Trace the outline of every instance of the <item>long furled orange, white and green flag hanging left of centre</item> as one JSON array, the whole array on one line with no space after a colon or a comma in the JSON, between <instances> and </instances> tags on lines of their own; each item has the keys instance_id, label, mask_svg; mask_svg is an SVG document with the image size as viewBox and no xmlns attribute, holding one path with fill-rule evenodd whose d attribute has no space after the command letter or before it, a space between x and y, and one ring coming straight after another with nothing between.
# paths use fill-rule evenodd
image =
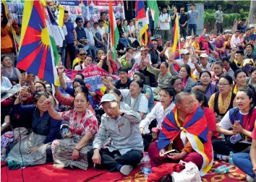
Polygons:
<instances>
[{"instance_id":1,"label":"long furled orange, white and green flag hanging left of centre","mask_svg":"<svg viewBox=\"0 0 256 182\"><path fill-rule=\"evenodd\" d=\"M109 1L109 30L110 30L110 45L111 45L111 55L114 61L116 61L116 48L119 41L119 30L116 25L116 18L113 10L111 1Z\"/></svg>"}]
</instances>

